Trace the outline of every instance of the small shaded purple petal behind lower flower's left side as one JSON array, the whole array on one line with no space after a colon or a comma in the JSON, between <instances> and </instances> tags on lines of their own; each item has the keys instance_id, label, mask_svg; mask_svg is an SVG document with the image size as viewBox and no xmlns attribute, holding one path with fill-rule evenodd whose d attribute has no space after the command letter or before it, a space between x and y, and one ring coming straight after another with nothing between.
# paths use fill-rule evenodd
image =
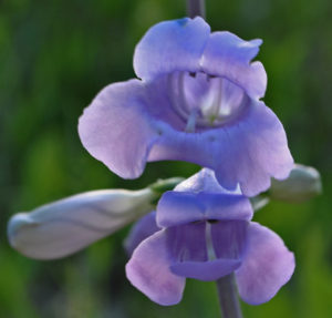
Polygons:
<instances>
[{"instance_id":1,"label":"small shaded purple petal behind lower flower's left side","mask_svg":"<svg viewBox=\"0 0 332 318\"><path fill-rule=\"evenodd\" d=\"M141 242L155 234L159 229L160 228L156 224L155 211L138 219L131 229L129 235L126 237L124 243L127 254L131 256Z\"/></svg>"}]
</instances>

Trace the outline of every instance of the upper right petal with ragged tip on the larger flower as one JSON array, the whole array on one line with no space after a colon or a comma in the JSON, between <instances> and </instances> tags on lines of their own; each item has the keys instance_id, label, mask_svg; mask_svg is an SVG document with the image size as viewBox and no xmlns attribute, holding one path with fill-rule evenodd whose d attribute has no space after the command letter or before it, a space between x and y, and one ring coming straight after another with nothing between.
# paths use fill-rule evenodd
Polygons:
<instances>
[{"instance_id":1,"label":"upper right petal with ragged tip on the larger flower","mask_svg":"<svg viewBox=\"0 0 332 318\"><path fill-rule=\"evenodd\" d=\"M261 40L243 41L230 32L210 34L203 54L201 68L210 75L227 78L252 99L264 95L267 74L260 62L250 64Z\"/></svg>"}]
</instances>

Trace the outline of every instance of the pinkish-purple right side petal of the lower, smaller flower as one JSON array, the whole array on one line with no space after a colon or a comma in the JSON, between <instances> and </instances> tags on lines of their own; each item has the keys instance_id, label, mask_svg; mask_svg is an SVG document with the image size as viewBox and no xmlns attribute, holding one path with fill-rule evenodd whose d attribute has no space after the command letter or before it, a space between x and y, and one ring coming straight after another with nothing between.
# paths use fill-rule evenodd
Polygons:
<instances>
[{"instance_id":1,"label":"pinkish-purple right side petal of the lower, smaller flower","mask_svg":"<svg viewBox=\"0 0 332 318\"><path fill-rule=\"evenodd\" d=\"M236 271L241 298L251 305L269 301L292 276L294 256L269 228L251 223L248 249Z\"/></svg>"}]
</instances>

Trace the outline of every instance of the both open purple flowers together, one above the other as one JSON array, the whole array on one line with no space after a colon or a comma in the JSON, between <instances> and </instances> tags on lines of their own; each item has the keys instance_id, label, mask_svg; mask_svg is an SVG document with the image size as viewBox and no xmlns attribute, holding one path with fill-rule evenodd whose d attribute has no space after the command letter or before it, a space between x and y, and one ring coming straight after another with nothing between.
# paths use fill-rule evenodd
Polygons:
<instances>
[{"instance_id":1,"label":"both open purple flowers together, one above the other","mask_svg":"<svg viewBox=\"0 0 332 318\"><path fill-rule=\"evenodd\" d=\"M80 119L83 145L124 178L153 161L204 167L127 239L128 279L160 305L180 300L186 277L231 273L242 299L260 304L293 273L281 238L251 222L248 197L293 167L282 124L260 101L267 75L251 62L260 44L210 33L201 18L158 23L136 47L139 79L106 86Z\"/></svg>"}]
</instances>

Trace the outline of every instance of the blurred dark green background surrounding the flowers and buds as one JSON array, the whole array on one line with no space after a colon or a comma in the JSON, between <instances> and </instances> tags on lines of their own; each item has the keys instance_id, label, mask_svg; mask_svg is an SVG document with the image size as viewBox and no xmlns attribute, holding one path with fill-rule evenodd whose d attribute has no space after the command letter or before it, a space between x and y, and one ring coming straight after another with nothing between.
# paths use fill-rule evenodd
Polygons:
<instances>
[{"instance_id":1,"label":"blurred dark green background surrounding the flowers and buds","mask_svg":"<svg viewBox=\"0 0 332 318\"><path fill-rule=\"evenodd\" d=\"M206 2L212 30L263 39L264 101L284 124L294 160L319 168L324 187L308 203L274 202L255 215L295 253L297 268L270 302L242 304L245 317L331 317L332 2ZM184 16L185 1L178 0L0 2L1 318L219 316L214 283L188 279L183 301L174 307L160 307L132 287L124 273L128 227L54 261L25 258L6 237L7 220L17 212L89 189L139 188L198 170L153 163L141 178L123 181L87 154L76 132L83 107L103 86L135 76L132 57L144 32Z\"/></svg>"}]
</instances>

